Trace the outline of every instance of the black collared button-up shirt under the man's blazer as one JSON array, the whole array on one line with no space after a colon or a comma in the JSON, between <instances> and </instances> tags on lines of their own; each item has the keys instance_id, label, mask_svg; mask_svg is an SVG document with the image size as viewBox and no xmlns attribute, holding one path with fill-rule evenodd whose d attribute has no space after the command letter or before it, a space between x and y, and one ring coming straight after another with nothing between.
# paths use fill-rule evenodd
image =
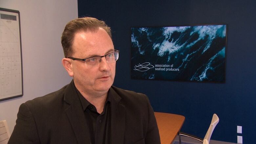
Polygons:
<instances>
[{"instance_id":1,"label":"black collared button-up shirt under the man's blazer","mask_svg":"<svg viewBox=\"0 0 256 144\"><path fill-rule=\"evenodd\" d=\"M98 113L96 107L87 101L76 89L84 110L87 127L89 128L92 144L111 143L110 105L111 95L108 93L102 113ZM87 136L87 135L85 135Z\"/></svg>"}]
</instances>

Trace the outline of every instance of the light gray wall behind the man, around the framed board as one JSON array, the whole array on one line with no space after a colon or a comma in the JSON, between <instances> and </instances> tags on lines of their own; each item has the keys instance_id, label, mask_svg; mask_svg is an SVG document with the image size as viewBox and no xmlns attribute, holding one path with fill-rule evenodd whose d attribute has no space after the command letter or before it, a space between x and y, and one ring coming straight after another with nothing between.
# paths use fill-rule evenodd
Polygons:
<instances>
[{"instance_id":1,"label":"light gray wall behind the man, around the framed board","mask_svg":"<svg viewBox=\"0 0 256 144\"><path fill-rule=\"evenodd\" d=\"M60 37L66 23L77 18L77 0L0 0L0 7L20 11L24 95L0 101L0 120L7 120L12 133L22 103L72 79L61 64Z\"/></svg>"}]
</instances>

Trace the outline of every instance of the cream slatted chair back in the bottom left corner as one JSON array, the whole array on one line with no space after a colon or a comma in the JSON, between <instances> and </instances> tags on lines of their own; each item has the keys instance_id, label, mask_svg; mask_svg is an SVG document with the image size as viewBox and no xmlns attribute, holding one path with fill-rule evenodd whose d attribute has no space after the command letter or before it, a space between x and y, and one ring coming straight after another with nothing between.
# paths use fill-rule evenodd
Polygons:
<instances>
[{"instance_id":1,"label":"cream slatted chair back in the bottom left corner","mask_svg":"<svg viewBox=\"0 0 256 144\"><path fill-rule=\"evenodd\" d=\"M0 121L0 144L7 144L10 136L6 120Z\"/></svg>"}]
</instances>

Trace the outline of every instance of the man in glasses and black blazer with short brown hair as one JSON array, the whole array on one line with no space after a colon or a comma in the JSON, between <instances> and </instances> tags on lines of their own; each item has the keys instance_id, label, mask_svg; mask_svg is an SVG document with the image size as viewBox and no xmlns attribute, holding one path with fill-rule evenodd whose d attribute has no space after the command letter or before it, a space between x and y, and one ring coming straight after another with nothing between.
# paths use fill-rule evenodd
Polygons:
<instances>
[{"instance_id":1,"label":"man in glasses and black blazer with short brown hair","mask_svg":"<svg viewBox=\"0 0 256 144\"><path fill-rule=\"evenodd\" d=\"M77 18L61 43L72 82L23 103L9 144L160 144L146 95L112 86L119 53L110 28Z\"/></svg>"}]
</instances>

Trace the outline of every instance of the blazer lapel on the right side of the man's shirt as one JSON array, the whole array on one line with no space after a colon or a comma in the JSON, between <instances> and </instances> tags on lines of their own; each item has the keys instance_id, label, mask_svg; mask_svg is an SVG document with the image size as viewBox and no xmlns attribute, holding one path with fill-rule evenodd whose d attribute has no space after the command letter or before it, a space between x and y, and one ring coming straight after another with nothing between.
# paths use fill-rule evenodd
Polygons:
<instances>
[{"instance_id":1,"label":"blazer lapel on the right side of the man's shirt","mask_svg":"<svg viewBox=\"0 0 256 144\"><path fill-rule=\"evenodd\" d=\"M111 141L123 144L125 130L125 106L119 102L121 97L110 88L111 99Z\"/></svg>"}]
</instances>

